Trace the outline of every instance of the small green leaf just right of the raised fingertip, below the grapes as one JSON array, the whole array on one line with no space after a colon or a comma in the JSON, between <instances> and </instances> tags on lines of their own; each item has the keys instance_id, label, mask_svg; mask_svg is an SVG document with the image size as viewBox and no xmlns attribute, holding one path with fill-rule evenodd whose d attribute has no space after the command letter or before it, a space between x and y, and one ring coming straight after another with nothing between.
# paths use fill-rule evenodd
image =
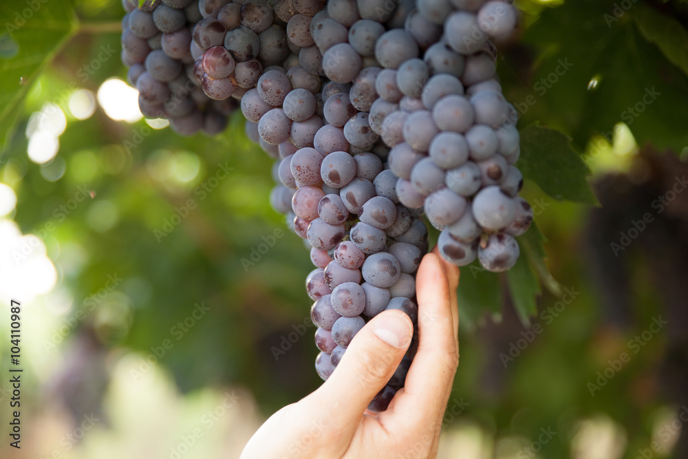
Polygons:
<instances>
[{"instance_id":1,"label":"small green leaf just right of the raised fingertip, below the grapes","mask_svg":"<svg viewBox=\"0 0 688 459\"><path fill-rule=\"evenodd\" d=\"M461 268L459 288L456 290L459 314L463 325L473 328L485 312L502 314L502 286L499 276L485 270L480 264Z\"/></svg>"}]
</instances>

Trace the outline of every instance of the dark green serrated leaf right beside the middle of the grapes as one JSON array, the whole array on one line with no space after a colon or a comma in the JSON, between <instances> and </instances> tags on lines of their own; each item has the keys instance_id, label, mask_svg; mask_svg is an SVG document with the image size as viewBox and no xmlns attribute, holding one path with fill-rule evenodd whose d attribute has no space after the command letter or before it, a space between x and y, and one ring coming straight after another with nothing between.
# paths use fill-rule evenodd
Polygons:
<instances>
[{"instance_id":1,"label":"dark green serrated leaf right beside the middle of the grapes","mask_svg":"<svg viewBox=\"0 0 688 459\"><path fill-rule=\"evenodd\" d=\"M537 123L523 129L518 166L552 198L598 204L588 183L590 169L561 131Z\"/></svg>"}]
</instances>

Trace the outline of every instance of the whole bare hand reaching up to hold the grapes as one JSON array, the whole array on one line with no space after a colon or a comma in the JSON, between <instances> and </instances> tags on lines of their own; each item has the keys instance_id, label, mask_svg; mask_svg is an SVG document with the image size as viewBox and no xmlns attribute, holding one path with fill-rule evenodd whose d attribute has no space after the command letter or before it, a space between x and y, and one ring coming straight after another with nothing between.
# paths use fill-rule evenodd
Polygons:
<instances>
[{"instance_id":1,"label":"whole bare hand reaching up to hold the grapes","mask_svg":"<svg viewBox=\"0 0 688 459\"><path fill-rule=\"evenodd\" d=\"M459 363L459 269L424 256L416 276L418 352L385 412L367 411L411 342L401 311L381 312L356 334L315 392L283 407L249 440L241 459L434 458Z\"/></svg>"}]
</instances>

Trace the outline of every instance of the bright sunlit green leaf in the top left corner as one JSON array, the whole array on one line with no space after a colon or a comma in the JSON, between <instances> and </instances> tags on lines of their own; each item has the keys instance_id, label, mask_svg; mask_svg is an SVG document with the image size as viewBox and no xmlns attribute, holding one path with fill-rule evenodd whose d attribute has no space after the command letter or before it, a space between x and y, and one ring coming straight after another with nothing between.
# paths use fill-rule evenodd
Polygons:
<instances>
[{"instance_id":1,"label":"bright sunlit green leaf in the top left corner","mask_svg":"<svg viewBox=\"0 0 688 459\"><path fill-rule=\"evenodd\" d=\"M14 131L17 113L32 83L78 30L69 0L0 2L0 150ZM29 14L30 13L30 14Z\"/></svg>"}]
</instances>

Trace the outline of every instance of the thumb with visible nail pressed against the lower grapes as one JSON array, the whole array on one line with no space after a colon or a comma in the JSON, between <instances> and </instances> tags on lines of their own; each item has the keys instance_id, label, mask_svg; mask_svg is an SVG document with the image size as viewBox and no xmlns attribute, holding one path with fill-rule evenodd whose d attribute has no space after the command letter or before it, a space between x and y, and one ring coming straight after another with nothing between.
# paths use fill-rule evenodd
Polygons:
<instances>
[{"instance_id":1,"label":"thumb with visible nail pressed against the lower grapes","mask_svg":"<svg viewBox=\"0 0 688 459\"><path fill-rule=\"evenodd\" d=\"M318 409L330 410L341 425L361 418L394 374L412 335L405 312L389 310L374 317L356 334L332 376L312 394Z\"/></svg>"}]
</instances>

